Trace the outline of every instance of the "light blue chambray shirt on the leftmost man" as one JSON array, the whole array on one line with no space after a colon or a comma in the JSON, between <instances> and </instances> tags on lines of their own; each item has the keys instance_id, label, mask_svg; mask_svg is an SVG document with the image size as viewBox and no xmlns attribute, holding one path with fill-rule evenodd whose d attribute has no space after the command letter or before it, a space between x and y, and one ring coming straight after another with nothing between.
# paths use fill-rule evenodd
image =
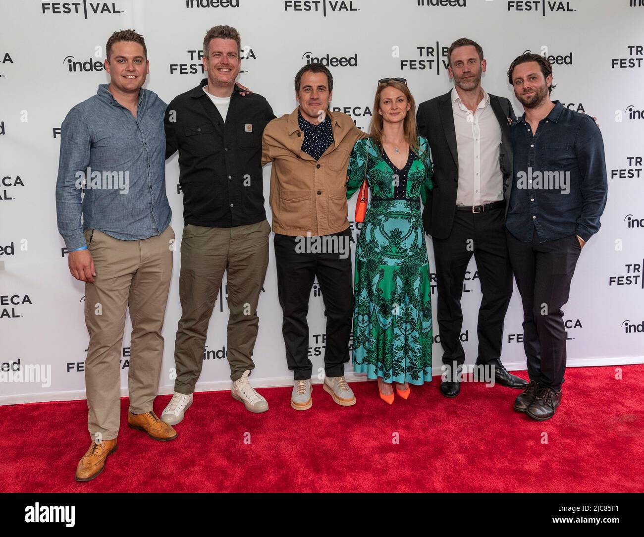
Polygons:
<instances>
[{"instance_id":1,"label":"light blue chambray shirt on the leftmost man","mask_svg":"<svg viewBox=\"0 0 644 537\"><path fill-rule=\"evenodd\" d=\"M108 88L100 84L62 122L56 211L70 251L86 245L86 229L120 240L147 239L164 232L172 216L165 176L167 105L141 89L135 118ZM79 185L88 168L81 202Z\"/></svg>"}]
</instances>

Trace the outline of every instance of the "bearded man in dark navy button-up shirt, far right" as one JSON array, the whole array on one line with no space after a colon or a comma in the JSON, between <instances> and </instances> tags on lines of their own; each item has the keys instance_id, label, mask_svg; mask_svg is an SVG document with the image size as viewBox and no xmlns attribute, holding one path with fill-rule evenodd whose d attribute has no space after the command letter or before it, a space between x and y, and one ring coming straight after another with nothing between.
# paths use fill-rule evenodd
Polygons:
<instances>
[{"instance_id":1,"label":"bearded man in dark navy button-up shirt, far right","mask_svg":"<svg viewBox=\"0 0 644 537\"><path fill-rule=\"evenodd\" d=\"M600 229L606 163L592 118L550 100L553 70L547 59L524 53L507 77L525 109L512 129L514 178L506 221L530 377L515 410L542 421L553 417L562 399L562 306L583 245Z\"/></svg>"}]
</instances>

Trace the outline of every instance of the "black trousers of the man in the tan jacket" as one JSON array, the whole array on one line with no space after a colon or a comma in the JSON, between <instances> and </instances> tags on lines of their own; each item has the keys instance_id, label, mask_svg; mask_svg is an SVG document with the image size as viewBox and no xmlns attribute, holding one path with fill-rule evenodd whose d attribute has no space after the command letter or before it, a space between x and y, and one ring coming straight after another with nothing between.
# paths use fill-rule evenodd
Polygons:
<instances>
[{"instance_id":1,"label":"black trousers of the man in the tan jacket","mask_svg":"<svg viewBox=\"0 0 644 537\"><path fill-rule=\"evenodd\" d=\"M350 229L327 237L332 236L337 236L346 250L310 253L302 251L301 241L298 242L296 237L275 234L273 240L286 359L296 381L310 379L312 374L313 366L308 359L307 314L316 276L327 316L324 355L327 377L344 375L345 363L349 361L349 338L354 315Z\"/></svg>"}]
</instances>

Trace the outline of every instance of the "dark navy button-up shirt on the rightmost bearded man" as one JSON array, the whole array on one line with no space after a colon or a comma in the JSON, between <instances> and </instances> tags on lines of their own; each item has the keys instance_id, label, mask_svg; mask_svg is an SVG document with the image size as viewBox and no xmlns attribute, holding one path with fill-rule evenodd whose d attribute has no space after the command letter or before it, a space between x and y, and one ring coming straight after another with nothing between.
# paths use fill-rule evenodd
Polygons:
<instances>
[{"instance_id":1,"label":"dark navy button-up shirt on the rightmost bearded man","mask_svg":"<svg viewBox=\"0 0 644 537\"><path fill-rule=\"evenodd\" d=\"M514 176L506 227L518 240L539 242L600 229L608 182L603 140L592 117L558 100L533 135L526 114L512 126Z\"/></svg>"}]
</instances>

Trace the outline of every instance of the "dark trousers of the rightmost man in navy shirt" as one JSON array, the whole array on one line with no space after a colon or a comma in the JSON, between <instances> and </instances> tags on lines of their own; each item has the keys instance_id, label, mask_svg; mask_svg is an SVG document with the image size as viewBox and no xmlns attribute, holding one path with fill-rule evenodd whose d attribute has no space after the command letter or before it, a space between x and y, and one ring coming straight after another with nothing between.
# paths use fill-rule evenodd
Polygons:
<instances>
[{"instance_id":1,"label":"dark trousers of the rightmost man in navy shirt","mask_svg":"<svg viewBox=\"0 0 644 537\"><path fill-rule=\"evenodd\" d=\"M562 306L582 251L576 235L539 243L516 240L507 249L524 308L524 349L531 381L560 390L564 382L566 332Z\"/></svg>"}]
</instances>

